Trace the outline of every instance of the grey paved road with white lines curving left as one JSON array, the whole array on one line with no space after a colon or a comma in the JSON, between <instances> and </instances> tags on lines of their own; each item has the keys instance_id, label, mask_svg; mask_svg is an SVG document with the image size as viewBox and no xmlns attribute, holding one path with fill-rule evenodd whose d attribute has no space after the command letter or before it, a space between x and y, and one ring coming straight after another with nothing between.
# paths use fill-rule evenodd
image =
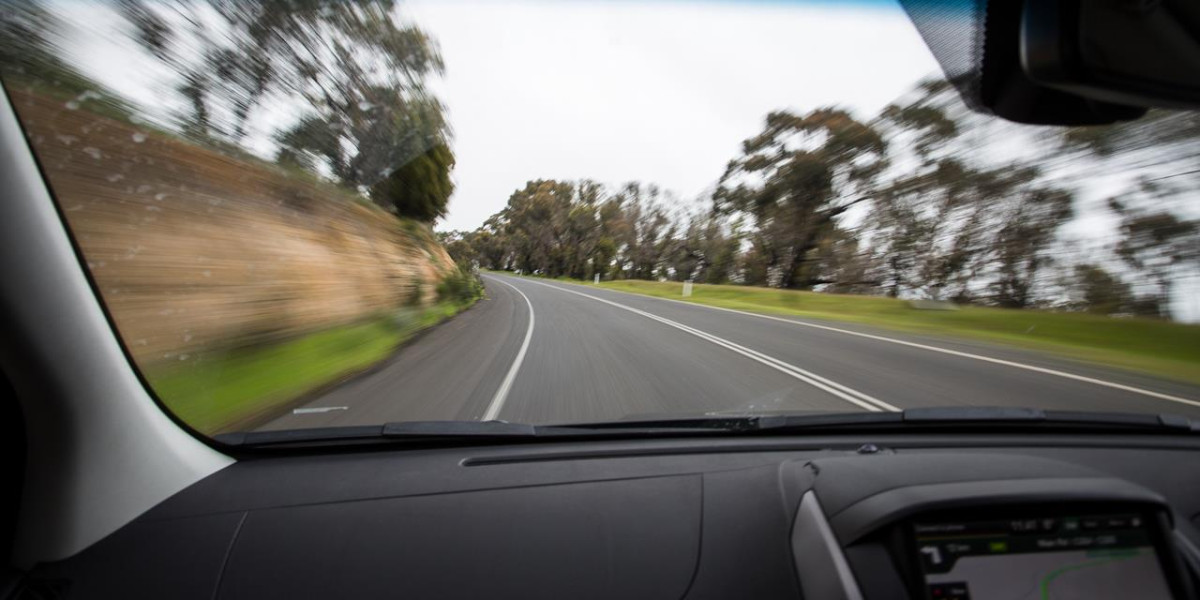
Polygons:
<instances>
[{"instance_id":1,"label":"grey paved road with white lines curving left","mask_svg":"<svg viewBox=\"0 0 1200 600\"><path fill-rule=\"evenodd\" d=\"M484 277L469 311L262 428L936 406L1200 418L1200 388L1028 352Z\"/></svg>"}]
</instances>

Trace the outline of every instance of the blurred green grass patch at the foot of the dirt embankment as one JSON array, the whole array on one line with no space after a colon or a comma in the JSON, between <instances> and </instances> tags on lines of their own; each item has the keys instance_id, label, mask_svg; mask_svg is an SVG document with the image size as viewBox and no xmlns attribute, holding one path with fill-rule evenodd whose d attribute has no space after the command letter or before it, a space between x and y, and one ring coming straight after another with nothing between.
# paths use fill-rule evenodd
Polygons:
<instances>
[{"instance_id":1,"label":"blurred green grass patch at the foot of the dirt embankment","mask_svg":"<svg viewBox=\"0 0 1200 600\"><path fill-rule=\"evenodd\" d=\"M360 372L469 304L442 302L289 341L190 356L146 368L158 397L205 434L238 431L301 395Z\"/></svg>"}]
</instances>

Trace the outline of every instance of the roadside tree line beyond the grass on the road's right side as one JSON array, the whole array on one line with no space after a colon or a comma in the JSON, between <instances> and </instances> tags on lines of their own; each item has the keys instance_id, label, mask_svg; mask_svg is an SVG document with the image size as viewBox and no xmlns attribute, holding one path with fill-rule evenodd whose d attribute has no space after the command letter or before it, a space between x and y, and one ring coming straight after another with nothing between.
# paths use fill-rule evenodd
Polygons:
<instances>
[{"instance_id":1,"label":"roadside tree line beyond the grass on the road's right side","mask_svg":"<svg viewBox=\"0 0 1200 600\"><path fill-rule=\"evenodd\" d=\"M1200 184L1198 167L1194 115L1032 128L924 83L869 120L836 107L767 115L694 202L646 182L532 180L479 229L442 236L461 263L551 277L1169 318L1174 287L1200 266L1200 226L1171 205ZM1116 222L1116 241L1063 232L1082 198L1090 217Z\"/></svg>"}]
</instances>

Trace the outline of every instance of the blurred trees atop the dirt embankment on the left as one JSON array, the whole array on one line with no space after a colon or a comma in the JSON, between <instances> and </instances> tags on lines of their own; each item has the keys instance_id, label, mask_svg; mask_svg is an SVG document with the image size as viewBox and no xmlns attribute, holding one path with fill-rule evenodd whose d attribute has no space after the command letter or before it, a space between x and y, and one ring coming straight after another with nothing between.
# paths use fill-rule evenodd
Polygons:
<instances>
[{"instance_id":1,"label":"blurred trees atop the dirt embankment on the left","mask_svg":"<svg viewBox=\"0 0 1200 600\"><path fill-rule=\"evenodd\" d=\"M241 143L256 110L300 118L276 132L280 164L350 188L374 185L402 216L445 214L454 155L444 108L425 88L436 43L390 0L120 0L144 49L179 76L179 130ZM212 23L211 16L216 17ZM292 108L294 107L294 108Z\"/></svg>"}]
</instances>

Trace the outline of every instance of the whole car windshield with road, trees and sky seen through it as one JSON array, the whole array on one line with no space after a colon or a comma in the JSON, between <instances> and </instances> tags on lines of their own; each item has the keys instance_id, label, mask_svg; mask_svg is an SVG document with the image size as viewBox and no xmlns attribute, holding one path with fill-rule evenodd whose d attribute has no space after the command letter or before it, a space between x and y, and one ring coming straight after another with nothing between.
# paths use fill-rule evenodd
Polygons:
<instances>
[{"instance_id":1,"label":"whole car windshield with road, trees and sky seen through it","mask_svg":"<svg viewBox=\"0 0 1200 600\"><path fill-rule=\"evenodd\" d=\"M1200 416L1200 118L972 112L895 2L0 8L94 287L203 434Z\"/></svg>"}]
</instances>

